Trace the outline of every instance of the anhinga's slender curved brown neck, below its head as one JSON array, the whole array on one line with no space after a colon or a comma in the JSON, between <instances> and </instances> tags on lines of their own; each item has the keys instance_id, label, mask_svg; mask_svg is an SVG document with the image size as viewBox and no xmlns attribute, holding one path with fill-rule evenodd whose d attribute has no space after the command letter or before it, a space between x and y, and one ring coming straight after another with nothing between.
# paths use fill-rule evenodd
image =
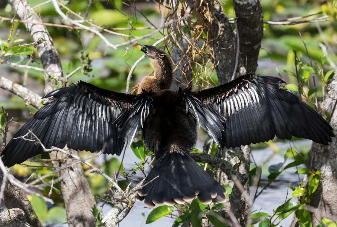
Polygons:
<instances>
[{"instance_id":1,"label":"anhinga's slender curved brown neck, below its head","mask_svg":"<svg viewBox=\"0 0 337 227\"><path fill-rule=\"evenodd\" d=\"M172 66L170 59L165 55L161 58L150 59L154 66L154 77L160 82L160 87L169 89L172 83Z\"/></svg>"}]
</instances>

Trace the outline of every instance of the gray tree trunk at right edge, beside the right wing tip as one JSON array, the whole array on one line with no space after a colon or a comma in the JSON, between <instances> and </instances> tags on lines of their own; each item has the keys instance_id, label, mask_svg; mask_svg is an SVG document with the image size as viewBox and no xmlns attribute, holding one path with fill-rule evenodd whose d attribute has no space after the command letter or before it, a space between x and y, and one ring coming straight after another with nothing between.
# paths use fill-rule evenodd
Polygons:
<instances>
[{"instance_id":1,"label":"gray tree trunk at right edge, beside the right wing tip","mask_svg":"<svg viewBox=\"0 0 337 227\"><path fill-rule=\"evenodd\" d=\"M325 116L325 111L330 115L330 125L337 135L337 73L333 81L327 86L327 95L319 102L321 107L320 114ZM329 145L312 143L308 169L313 171L321 170L320 182L317 190L310 196L311 221L312 226L317 226L321 218L337 220L337 140L332 138ZM307 185L308 177L304 179L304 185ZM299 226L296 214L294 215L292 226Z\"/></svg>"}]
</instances>

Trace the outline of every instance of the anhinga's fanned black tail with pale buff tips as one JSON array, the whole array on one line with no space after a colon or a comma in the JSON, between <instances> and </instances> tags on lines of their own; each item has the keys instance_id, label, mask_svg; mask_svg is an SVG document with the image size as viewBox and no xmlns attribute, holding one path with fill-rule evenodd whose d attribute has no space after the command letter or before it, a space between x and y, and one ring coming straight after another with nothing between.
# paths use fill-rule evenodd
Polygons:
<instances>
[{"instance_id":1,"label":"anhinga's fanned black tail with pale buff tips","mask_svg":"<svg viewBox=\"0 0 337 227\"><path fill-rule=\"evenodd\" d=\"M159 177L157 177L159 176ZM156 179L154 179L157 177ZM154 180L153 180L154 179ZM198 196L202 203L212 199L224 202L225 189L206 173L186 152L167 152L146 177L137 197L153 207L192 201Z\"/></svg>"}]
</instances>

